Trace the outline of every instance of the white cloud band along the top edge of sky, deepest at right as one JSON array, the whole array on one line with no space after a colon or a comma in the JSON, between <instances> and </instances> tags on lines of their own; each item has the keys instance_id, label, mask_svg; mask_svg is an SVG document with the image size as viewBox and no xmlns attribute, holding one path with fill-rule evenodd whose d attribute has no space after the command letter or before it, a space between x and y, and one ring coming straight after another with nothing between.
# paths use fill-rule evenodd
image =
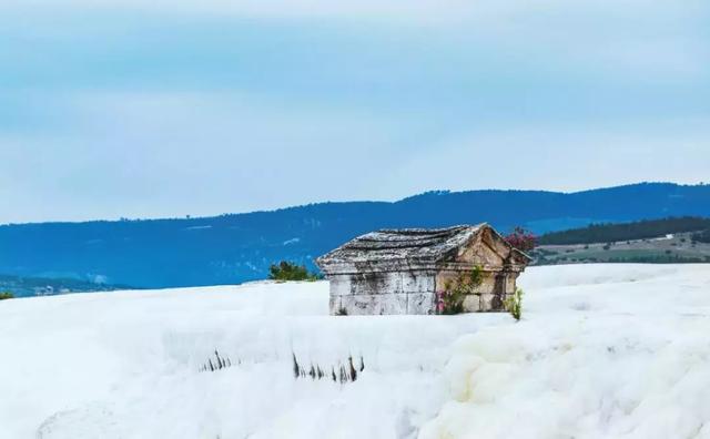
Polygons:
<instances>
[{"instance_id":1,"label":"white cloud band along the top edge of sky, deepest at right","mask_svg":"<svg viewBox=\"0 0 710 439\"><path fill-rule=\"evenodd\" d=\"M710 7L702 0L65 0L61 8L54 0L11 0L0 2L3 9L22 11L21 22L42 13L53 20L53 11L85 17L128 11L155 22L251 18L272 24L341 23L344 32L387 29L404 40L433 27L428 31L435 45L490 47L511 59L549 62L550 70L611 75L699 78L708 75L710 65L703 34ZM36 31L51 37L57 33L52 28L51 21L43 22Z\"/></svg>"}]
</instances>

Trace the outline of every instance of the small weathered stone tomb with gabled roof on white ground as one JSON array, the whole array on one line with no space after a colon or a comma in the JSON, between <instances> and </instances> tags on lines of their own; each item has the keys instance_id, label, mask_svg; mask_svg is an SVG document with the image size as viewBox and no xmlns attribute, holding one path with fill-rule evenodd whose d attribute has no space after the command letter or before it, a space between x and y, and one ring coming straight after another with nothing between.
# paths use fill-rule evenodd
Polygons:
<instances>
[{"instance_id":1,"label":"small weathered stone tomb with gabled roof on white ground","mask_svg":"<svg viewBox=\"0 0 710 439\"><path fill-rule=\"evenodd\" d=\"M504 310L529 262L487 224L372 232L316 261L331 282L331 314L348 315L435 314L436 293L475 266L484 282L465 310Z\"/></svg>"}]
</instances>

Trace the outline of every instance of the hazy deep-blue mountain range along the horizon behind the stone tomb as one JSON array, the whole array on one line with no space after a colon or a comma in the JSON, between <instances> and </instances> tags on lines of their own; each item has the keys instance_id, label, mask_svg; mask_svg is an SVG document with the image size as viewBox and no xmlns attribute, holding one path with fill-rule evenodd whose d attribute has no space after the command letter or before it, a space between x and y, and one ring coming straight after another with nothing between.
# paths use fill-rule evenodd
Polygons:
<instances>
[{"instance_id":1,"label":"hazy deep-blue mountain range along the horizon behind the stone tomb","mask_svg":"<svg viewBox=\"0 0 710 439\"><path fill-rule=\"evenodd\" d=\"M0 274L135 287L235 284L305 263L382 227L488 222L537 233L599 222L710 216L710 185L641 183L577 193L428 192L398 202L320 203L205 218L0 226Z\"/></svg>"}]
</instances>

